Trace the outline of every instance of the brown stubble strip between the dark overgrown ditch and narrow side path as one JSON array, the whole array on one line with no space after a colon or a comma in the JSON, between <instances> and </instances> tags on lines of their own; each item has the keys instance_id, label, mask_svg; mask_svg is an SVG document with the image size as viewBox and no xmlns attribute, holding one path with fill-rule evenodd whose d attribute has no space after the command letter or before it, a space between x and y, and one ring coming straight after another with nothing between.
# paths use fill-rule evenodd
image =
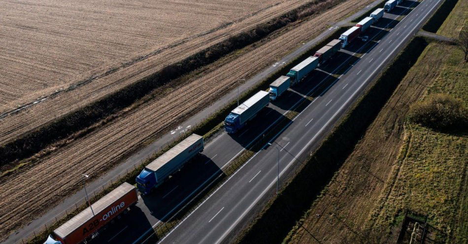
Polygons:
<instances>
[{"instance_id":1,"label":"brown stubble strip between the dark overgrown ditch and narrow side path","mask_svg":"<svg viewBox=\"0 0 468 244\"><path fill-rule=\"evenodd\" d=\"M265 41L253 51L218 67L201 78L190 80L177 88L168 89L161 97L129 112L125 117L85 137L71 141L67 147L40 159L28 169L22 170L24 171L22 174L1 179L1 236L5 236L8 232L32 220L34 216L44 213L48 207L57 204L60 197L74 192L79 184L77 176L84 170L93 172L93 175L99 175L118 163L126 152L131 151L141 142L171 128L238 85L236 81L239 78L244 78L247 74L255 73L266 65L274 63L276 57L285 55L297 47L301 41L318 35L328 28L330 22L342 19L369 2L371 0L345 1L301 23L296 28ZM173 55L174 59L180 56L180 54ZM138 65L145 68L133 73L129 70L128 73L119 70L110 74L109 77L117 73L125 73L126 78L136 79L134 76L141 77L140 73L154 69L154 63L151 64L149 60L138 62ZM127 80L117 79L115 84L125 83ZM87 99L85 94L87 93L83 93L83 100ZM89 97L89 99L92 98ZM38 104L37 107L42 104ZM45 108L43 111L45 112ZM23 118L27 119L27 117ZM43 179L54 180L43 181ZM60 196L57 195L58 192Z\"/></svg>"}]
</instances>

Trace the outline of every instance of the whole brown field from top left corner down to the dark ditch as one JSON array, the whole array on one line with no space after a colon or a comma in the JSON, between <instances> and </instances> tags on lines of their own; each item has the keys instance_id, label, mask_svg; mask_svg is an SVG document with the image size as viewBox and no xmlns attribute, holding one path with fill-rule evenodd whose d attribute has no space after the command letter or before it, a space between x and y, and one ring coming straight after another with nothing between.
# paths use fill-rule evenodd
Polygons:
<instances>
[{"instance_id":1,"label":"whole brown field from top left corner down to the dark ditch","mask_svg":"<svg viewBox=\"0 0 468 244\"><path fill-rule=\"evenodd\" d=\"M0 145L305 2L2 2Z\"/></svg>"}]
</instances>

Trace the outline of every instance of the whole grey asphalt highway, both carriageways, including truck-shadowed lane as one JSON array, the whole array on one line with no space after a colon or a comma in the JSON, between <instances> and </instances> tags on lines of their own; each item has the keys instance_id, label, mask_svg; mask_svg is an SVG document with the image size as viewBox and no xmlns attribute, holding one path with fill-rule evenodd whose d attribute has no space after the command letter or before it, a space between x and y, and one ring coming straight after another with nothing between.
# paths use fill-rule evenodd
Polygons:
<instances>
[{"instance_id":1,"label":"whole grey asphalt highway, both carriageways, including truck-shadowed lane","mask_svg":"<svg viewBox=\"0 0 468 244\"><path fill-rule=\"evenodd\" d=\"M236 135L220 133L204 151L154 194L140 197L136 208L111 224L91 243L143 243L154 235L153 228L190 203L216 179L225 178L221 169L256 139L263 136L296 104L308 102L299 115L278 131L277 136L255 152L170 234L163 243L221 243L232 237L247 214L275 189L279 156L280 182L297 166L368 87L378 72L392 61L406 41L417 32L441 0L404 1L392 13L341 49L333 60L313 71L300 85L271 102L251 124ZM410 9L414 8L414 9ZM396 20L399 19L399 20ZM312 101L305 96L314 97ZM269 194L267 194L269 193Z\"/></svg>"}]
</instances>

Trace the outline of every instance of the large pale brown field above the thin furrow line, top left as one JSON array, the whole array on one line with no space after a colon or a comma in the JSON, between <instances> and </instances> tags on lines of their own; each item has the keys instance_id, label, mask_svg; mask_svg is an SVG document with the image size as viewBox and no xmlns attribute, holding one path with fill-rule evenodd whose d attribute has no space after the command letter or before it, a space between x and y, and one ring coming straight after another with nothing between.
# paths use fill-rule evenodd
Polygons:
<instances>
[{"instance_id":1,"label":"large pale brown field above the thin furrow line, top left","mask_svg":"<svg viewBox=\"0 0 468 244\"><path fill-rule=\"evenodd\" d=\"M281 2L2 1L0 113Z\"/></svg>"}]
</instances>

